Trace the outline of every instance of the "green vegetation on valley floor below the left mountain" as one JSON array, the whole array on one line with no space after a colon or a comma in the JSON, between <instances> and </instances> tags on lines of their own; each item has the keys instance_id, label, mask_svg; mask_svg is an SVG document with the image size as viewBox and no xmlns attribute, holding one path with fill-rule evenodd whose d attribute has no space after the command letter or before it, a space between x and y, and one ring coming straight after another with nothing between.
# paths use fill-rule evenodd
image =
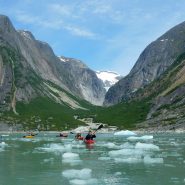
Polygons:
<instances>
[{"instance_id":1,"label":"green vegetation on valley floor below the left mountain","mask_svg":"<svg viewBox=\"0 0 185 185\"><path fill-rule=\"evenodd\" d=\"M36 129L40 125L43 130L66 130L82 122L75 120L72 109L55 103L46 97L32 100L29 104L17 103L16 110L19 115L12 112L4 114L4 117L13 117L25 123L24 127Z\"/></svg>"}]
</instances>

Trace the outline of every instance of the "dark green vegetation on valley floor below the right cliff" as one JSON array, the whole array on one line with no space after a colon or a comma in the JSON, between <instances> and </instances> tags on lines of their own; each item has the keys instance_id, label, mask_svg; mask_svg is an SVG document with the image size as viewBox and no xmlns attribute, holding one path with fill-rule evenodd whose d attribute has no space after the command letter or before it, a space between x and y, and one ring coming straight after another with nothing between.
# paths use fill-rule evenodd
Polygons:
<instances>
[{"instance_id":1,"label":"dark green vegetation on valley floor below the right cliff","mask_svg":"<svg viewBox=\"0 0 185 185\"><path fill-rule=\"evenodd\" d=\"M97 112L95 120L119 128L135 128L136 124L146 119L150 104L147 100L120 103Z\"/></svg>"}]
</instances>

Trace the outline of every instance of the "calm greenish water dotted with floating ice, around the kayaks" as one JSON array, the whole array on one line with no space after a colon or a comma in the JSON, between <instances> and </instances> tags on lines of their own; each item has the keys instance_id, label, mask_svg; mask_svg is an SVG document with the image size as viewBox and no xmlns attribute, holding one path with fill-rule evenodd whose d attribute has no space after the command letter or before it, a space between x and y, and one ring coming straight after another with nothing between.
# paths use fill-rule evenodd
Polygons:
<instances>
[{"instance_id":1,"label":"calm greenish water dotted with floating ice, around the kayaks","mask_svg":"<svg viewBox=\"0 0 185 185\"><path fill-rule=\"evenodd\" d=\"M98 134L94 146L73 137L3 136L0 185L185 184L185 134Z\"/></svg>"}]
</instances>

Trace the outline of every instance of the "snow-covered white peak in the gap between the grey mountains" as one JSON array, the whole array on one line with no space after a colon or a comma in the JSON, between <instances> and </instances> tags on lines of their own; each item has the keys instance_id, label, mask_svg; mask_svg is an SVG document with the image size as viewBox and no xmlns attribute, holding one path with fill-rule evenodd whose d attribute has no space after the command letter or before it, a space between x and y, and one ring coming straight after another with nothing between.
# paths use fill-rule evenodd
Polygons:
<instances>
[{"instance_id":1,"label":"snow-covered white peak in the gap between the grey mountains","mask_svg":"<svg viewBox=\"0 0 185 185\"><path fill-rule=\"evenodd\" d=\"M96 75L103 81L106 91L122 78L121 75L112 71L96 71Z\"/></svg>"}]
</instances>

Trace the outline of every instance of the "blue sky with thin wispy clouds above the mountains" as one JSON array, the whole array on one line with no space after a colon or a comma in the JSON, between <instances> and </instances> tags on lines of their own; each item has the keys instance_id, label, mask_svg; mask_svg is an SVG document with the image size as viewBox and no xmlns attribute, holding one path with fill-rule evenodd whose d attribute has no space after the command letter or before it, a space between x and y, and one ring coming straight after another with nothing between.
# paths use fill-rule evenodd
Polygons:
<instances>
[{"instance_id":1,"label":"blue sky with thin wispy clouds above the mountains","mask_svg":"<svg viewBox=\"0 0 185 185\"><path fill-rule=\"evenodd\" d=\"M57 56L125 76L141 52L185 21L185 0L0 0L0 14Z\"/></svg>"}]
</instances>

